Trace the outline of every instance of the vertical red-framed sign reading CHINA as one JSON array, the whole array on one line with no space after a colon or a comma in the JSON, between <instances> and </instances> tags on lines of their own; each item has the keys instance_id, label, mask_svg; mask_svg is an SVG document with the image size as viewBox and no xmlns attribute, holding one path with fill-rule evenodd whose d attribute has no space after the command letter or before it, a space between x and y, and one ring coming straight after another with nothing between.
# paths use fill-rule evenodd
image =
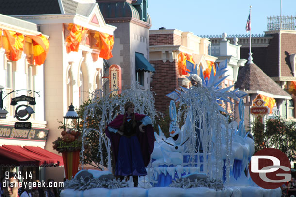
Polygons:
<instances>
[{"instance_id":1,"label":"vertical red-framed sign reading CHINA","mask_svg":"<svg viewBox=\"0 0 296 197\"><path fill-rule=\"evenodd\" d=\"M114 91L113 95L121 93L121 68L116 64L109 68L109 91Z\"/></svg>"}]
</instances>

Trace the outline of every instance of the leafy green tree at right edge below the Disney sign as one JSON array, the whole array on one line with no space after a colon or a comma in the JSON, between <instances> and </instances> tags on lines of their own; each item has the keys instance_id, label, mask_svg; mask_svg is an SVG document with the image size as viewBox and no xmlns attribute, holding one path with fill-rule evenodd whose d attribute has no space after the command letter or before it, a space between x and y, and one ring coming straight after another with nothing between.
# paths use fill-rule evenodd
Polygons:
<instances>
[{"instance_id":1,"label":"leafy green tree at right edge below the Disney sign","mask_svg":"<svg viewBox=\"0 0 296 197\"><path fill-rule=\"evenodd\" d=\"M296 122L285 121L281 117L268 119L265 124L259 120L253 123L255 151L263 148L276 148L288 158L296 160Z\"/></svg>"}]
</instances>

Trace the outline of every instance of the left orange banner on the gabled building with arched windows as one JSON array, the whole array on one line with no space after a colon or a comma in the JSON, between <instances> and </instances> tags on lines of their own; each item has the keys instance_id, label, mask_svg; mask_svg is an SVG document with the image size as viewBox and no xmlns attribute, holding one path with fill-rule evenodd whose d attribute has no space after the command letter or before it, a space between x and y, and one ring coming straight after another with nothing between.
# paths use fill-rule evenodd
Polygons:
<instances>
[{"instance_id":1,"label":"left orange banner on the gabled building with arched windows","mask_svg":"<svg viewBox=\"0 0 296 197\"><path fill-rule=\"evenodd\" d=\"M82 38L85 36L85 34L88 31L88 28L84 28L80 25L76 24L69 24L68 30L70 30L70 35L66 38L66 50L67 53L70 53L71 51L78 52L79 44L82 40Z\"/></svg>"}]
</instances>

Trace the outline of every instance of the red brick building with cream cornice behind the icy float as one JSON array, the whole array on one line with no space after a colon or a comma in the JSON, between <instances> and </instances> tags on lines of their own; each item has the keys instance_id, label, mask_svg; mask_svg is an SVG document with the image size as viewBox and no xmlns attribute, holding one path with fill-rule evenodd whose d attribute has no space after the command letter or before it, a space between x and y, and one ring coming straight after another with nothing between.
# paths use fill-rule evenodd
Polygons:
<instances>
[{"instance_id":1,"label":"red brick building with cream cornice behind the icy float","mask_svg":"<svg viewBox=\"0 0 296 197\"><path fill-rule=\"evenodd\" d=\"M156 70L151 90L156 93L155 108L165 113L171 100L166 94L179 89L179 86L189 87L189 80L179 72L178 54L189 54L203 70L208 67L207 61L215 62L217 58L209 55L209 39L200 38L191 32L177 29L150 30L149 40L150 63Z\"/></svg>"}]
</instances>

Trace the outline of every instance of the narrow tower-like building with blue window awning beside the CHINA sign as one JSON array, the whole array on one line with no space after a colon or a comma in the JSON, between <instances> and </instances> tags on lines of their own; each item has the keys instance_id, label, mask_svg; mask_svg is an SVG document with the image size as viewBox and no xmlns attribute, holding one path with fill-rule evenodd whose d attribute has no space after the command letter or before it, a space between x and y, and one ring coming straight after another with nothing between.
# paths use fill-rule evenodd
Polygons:
<instances>
[{"instance_id":1,"label":"narrow tower-like building with blue window awning beside the CHINA sign","mask_svg":"<svg viewBox=\"0 0 296 197\"><path fill-rule=\"evenodd\" d=\"M150 88L155 69L149 63L149 29L147 0L97 0L106 23L116 26L114 57L109 64L121 67L122 88L138 82L140 89Z\"/></svg>"}]
</instances>

